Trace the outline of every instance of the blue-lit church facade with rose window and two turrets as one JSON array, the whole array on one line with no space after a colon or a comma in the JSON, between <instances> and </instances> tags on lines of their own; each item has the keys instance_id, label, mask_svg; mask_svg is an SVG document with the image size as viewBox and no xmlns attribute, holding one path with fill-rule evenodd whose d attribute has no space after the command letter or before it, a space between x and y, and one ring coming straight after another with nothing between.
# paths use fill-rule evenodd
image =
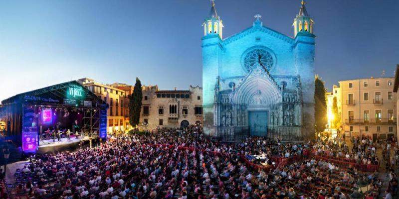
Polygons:
<instances>
[{"instance_id":1,"label":"blue-lit church facade with rose window and two turrets","mask_svg":"<svg viewBox=\"0 0 399 199\"><path fill-rule=\"evenodd\" d=\"M224 39L214 2L204 20L202 105L209 136L299 140L314 133L314 21L302 2L292 38L263 26L260 17Z\"/></svg>"}]
</instances>

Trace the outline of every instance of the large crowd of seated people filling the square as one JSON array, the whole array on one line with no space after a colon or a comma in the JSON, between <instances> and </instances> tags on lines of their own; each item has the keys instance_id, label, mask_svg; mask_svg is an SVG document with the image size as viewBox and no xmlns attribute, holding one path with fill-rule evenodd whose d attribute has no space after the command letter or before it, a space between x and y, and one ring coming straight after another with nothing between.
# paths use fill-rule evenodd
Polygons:
<instances>
[{"instance_id":1,"label":"large crowd of seated people filling the square","mask_svg":"<svg viewBox=\"0 0 399 199\"><path fill-rule=\"evenodd\" d=\"M312 157L264 171L239 158L289 158L311 147L261 137L211 142L198 127L114 136L95 148L43 155L16 175L16 192L57 199L346 199L364 179L372 184L370 194L378 195L382 183L376 173Z\"/></svg>"}]
</instances>

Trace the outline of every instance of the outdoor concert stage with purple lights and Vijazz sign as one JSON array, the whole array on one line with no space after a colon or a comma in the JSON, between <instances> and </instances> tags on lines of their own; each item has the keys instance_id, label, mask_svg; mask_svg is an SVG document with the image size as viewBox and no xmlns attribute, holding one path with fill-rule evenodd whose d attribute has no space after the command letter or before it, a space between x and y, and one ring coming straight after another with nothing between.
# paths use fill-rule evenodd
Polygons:
<instances>
[{"instance_id":1,"label":"outdoor concert stage with purple lights and Vijazz sign","mask_svg":"<svg viewBox=\"0 0 399 199\"><path fill-rule=\"evenodd\" d=\"M107 138L108 104L76 81L18 94L1 104L5 107L7 136L24 154L76 147L80 140L69 142L65 138L75 138L76 132ZM53 142L54 137L62 141Z\"/></svg>"}]
</instances>

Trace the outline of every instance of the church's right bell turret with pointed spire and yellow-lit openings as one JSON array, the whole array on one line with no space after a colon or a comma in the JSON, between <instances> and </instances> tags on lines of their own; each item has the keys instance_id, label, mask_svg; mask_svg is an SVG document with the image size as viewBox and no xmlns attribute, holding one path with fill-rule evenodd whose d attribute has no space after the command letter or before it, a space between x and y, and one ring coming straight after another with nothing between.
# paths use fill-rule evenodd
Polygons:
<instances>
[{"instance_id":1,"label":"church's right bell turret with pointed spire and yellow-lit openings","mask_svg":"<svg viewBox=\"0 0 399 199\"><path fill-rule=\"evenodd\" d=\"M294 24L292 24L294 26L294 36L296 37L299 32L313 34L313 24L313 18L309 16L305 7L305 1L302 0L299 13L294 19Z\"/></svg>"}]
</instances>

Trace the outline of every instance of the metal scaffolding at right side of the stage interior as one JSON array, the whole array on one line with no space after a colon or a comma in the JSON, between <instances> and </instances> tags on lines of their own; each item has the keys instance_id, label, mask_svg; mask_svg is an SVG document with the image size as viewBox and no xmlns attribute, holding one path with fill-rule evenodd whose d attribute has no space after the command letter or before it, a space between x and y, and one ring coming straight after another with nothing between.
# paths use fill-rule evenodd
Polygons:
<instances>
[{"instance_id":1,"label":"metal scaffolding at right side of the stage interior","mask_svg":"<svg viewBox=\"0 0 399 199\"><path fill-rule=\"evenodd\" d=\"M100 108L90 108L83 112L84 135L98 136L100 132Z\"/></svg>"}]
</instances>

